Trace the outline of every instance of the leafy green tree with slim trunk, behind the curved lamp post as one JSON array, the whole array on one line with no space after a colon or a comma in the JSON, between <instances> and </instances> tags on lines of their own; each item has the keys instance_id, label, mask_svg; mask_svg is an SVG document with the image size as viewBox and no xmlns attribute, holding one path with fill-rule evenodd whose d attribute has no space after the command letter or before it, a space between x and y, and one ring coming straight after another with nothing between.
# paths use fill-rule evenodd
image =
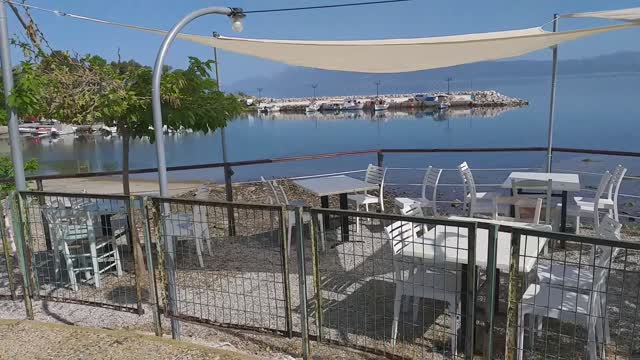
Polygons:
<instances>
[{"instance_id":1,"label":"leafy green tree with slim trunk, behind the curved lamp post","mask_svg":"<svg viewBox=\"0 0 640 360\"><path fill-rule=\"evenodd\" d=\"M14 69L9 104L22 118L116 126L123 138L123 186L128 193L129 138L148 136L154 141L152 69L133 60L109 63L94 55L43 53L27 43L14 45L24 60ZM213 131L242 111L235 96L218 90L212 65L211 60L190 57L186 69L165 67L161 98L163 123L169 129ZM0 114L3 121L6 112Z\"/></svg>"}]
</instances>

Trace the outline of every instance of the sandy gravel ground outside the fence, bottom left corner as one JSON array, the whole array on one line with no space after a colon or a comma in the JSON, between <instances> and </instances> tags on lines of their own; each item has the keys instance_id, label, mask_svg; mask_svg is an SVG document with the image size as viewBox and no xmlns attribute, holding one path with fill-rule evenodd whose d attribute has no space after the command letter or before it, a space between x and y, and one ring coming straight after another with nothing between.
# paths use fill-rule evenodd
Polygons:
<instances>
[{"instance_id":1,"label":"sandy gravel ground outside the fence, bottom left corner","mask_svg":"<svg viewBox=\"0 0 640 360\"><path fill-rule=\"evenodd\" d=\"M255 359L188 342L27 320L0 320L0 359Z\"/></svg>"}]
</instances>

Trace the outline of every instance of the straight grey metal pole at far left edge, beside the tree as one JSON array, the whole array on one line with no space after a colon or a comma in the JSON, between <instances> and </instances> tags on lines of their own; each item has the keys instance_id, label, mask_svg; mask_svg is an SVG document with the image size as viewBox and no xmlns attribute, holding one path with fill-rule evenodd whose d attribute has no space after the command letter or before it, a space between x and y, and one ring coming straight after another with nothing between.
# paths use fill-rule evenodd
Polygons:
<instances>
[{"instance_id":1,"label":"straight grey metal pole at far left edge, beside the tree","mask_svg":"<svg viewBox=\"0 0 640 360\"><path fill-rule=\"evenodd\" d=\"M7 12L5 4L0 4L0 59L2 61L2 83L4 85L4 101L7 108L7 122L9 126L9 144L11 146L11 161L13 176L18 191L27 190L24 178L24 162L22 159L22 145L18 130L18 114L9 106L9 95L13 91L13 68L9 50L9 30L7 29Z\"/></svg>"}]
</instances>

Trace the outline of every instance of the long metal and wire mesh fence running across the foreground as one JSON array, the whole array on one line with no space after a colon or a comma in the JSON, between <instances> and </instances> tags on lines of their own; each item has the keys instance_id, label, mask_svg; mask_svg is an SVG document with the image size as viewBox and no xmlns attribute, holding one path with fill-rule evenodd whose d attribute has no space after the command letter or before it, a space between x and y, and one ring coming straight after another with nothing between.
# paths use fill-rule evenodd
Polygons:
<instances>
[{"instance_id":1,"label":"long metal and wire mesh fence running across the foreground","mask_svg":"<svg viewBox=\"0 0 640 360\"><path fill-rule=\"evenodd\" d=\"M90 241L65 236L60 224L89 229L88 220L73 222L80 209L93 211L90 228L110 247L94 255ZM3 241L16 245L22 281L14 285L28 317L38 298L134 312L144 305L157 334L164 312L300 337L305 358L310 341L389 358L587 358L593 349L597 358L629 358L639 348L636 241L482 219L43 192L14 195L11 215L14 237ZM63 266L65 256L89 253L87 262L101 260L102 269L114 259L101 256L114 248L122 274L107 269L100 287L92 265L72 261L77 273ZM594 259L607 248L615 256L599 266ZM554 267L566 276L552 283L543 272ZM578 285L568 271L579 274ZM588 278L590 286L581 282ZM560 305L542 290L559 293ZM594 294L600 306L585 308Z\"/></svg>"}]
</instances>

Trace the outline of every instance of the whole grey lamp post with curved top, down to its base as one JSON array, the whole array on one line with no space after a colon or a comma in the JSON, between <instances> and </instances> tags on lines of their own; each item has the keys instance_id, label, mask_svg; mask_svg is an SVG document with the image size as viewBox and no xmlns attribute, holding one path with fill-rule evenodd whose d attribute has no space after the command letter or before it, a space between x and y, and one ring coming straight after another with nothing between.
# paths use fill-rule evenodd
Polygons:
<instances>
[{"instance_id":1,"label":"whole grey lamp post with curved top, down to its base","mask_svg":"<svg viewBox=\"0 0 640 360\"><path fill-rule=\"evenodd\" d=\"M1 15L2 13L0 13ZM151 83L151 102L153 109L153 131L156 136L156 155L158 162L158 180L160 183L160 196L168 196L168 183L167 183L167 163L164 153L164 133L162 131L162 107L160 97L160 80L162 78L162 67L164 65L164 58L169 50L169 47L173 43L180 30L182 30L191 21L209 14L226 15L232 20L232 28L234 31L242 31L242 18L245 17L242 9L228 8L228 7L208 7L200 10L196 10L173 26L171 31L167 33L158 55L156 57L156 63L153 68L153 78ZM1 34L0 34L1 35ZM3 67L4 68L4 67ZM6 80L5 80L6 81ZM168 209L164 209L167 211ZM172 315L178 315L178 307L176 303L176 278L175 278L175 251L173 248L173 239L171 236L167 236L166 239L167 248L167 273L169 282L169 309ZM174 339L180 338L180 323L175 318L171 319L171 336Z\"/></svg>"}]
</instances>

